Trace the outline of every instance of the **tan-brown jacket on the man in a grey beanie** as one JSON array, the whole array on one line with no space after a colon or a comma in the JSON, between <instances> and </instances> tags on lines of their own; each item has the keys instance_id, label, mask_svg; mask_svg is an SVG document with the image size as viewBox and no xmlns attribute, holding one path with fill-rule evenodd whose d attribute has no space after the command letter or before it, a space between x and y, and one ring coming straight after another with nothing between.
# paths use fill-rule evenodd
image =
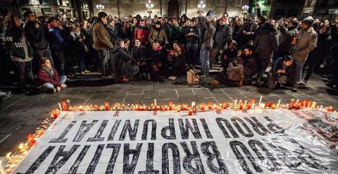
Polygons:
<instances>
[{"instance_id":1,"label":"tan-brown jacket on the man in a grey beanie","mask_svg":"<svg viewBox=\"0 0 338 174\"><path fill-rule=\"evenodd\" d=\"M317 45L318 34L313 30L313 27L310 27L308 30L300 30L297 32L296 39L298 39L298 42L292 50L292 58L305 63L308 54L315 49Z\"/></svg>"}]
</instances>

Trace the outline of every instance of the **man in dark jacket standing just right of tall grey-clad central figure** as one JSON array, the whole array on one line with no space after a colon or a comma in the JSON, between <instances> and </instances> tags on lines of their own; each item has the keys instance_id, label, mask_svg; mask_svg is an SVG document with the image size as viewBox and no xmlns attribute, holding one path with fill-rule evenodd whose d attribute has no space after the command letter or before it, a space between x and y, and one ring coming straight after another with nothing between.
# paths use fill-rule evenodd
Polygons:
<instances>
[{"instance_id":1,"label":"man in dark jacket standing just right of tall grey-clad central figure","mask_svg":"<svg viewBox=\"0 0 338 174\"><path fill-rule=\"evenodd\" d=\"M227 17L220 18L215 36L213 37L213 49L210 55L211 66L213 63L218 63L218 58L216 58L216 56L219 55L220 51L224 51L227 42L232 40L232 30L226 23Z\"/></svg>"}]
</instances>

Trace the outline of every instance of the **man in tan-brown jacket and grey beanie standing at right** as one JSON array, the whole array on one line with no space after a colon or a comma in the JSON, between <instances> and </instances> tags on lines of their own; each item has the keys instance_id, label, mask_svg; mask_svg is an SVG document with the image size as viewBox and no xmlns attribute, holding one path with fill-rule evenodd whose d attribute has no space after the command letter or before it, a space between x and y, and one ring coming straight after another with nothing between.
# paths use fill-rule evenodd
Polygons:
<instances>
[{"instance_id":1,"label":"man in tan-brown jacket and grey beanie standing at right","mask_svg":"<svg viewBox=\"0 0 338 174\"><path fill-rule=\"evenodd\" d=\"M314 19L309 16L301 22L301 30L297 32L294 43L294 49L292 51L292 68L289 77L289 85L292 85L292 92L298 91L298 85L301 81L301 74L303 65L308 58L310 51L315 49L317 44L318 34L313 27Z\"/></svg>"}]
</instances>

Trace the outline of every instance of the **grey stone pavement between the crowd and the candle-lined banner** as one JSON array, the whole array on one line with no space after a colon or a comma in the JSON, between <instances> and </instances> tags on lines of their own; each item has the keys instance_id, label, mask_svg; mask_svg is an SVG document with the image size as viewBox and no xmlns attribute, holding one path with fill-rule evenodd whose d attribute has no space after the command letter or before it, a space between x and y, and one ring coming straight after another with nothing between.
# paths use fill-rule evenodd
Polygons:
<instances>
[{"instance_id":1,"label":"grey stone pavement between the crowd and the candle-lined banner","mask_svg":"<svg viewBox=\"0 0 338 174\"><path fill-rule=\"evenodd\" d=\"M262 102L288 102L291 99L312 99L319 105L338 108L337 92L327 89L323 82L312 80L308 82L307 89L299 89L299 92L289 90L269 91L266 88L251 86L228 88L222 87L213 92L199 87L188 85L173 85L167 83L149 82L145 85L105 85L100 87L69 87L56 94L38 94L27 96L25 94L13 94L4 99L0 111L0 156L5 156L20 142L25 141L26 135L34 132L39 123L49 117L52 108L57 108L60 101L70 100L71 105L80 104L151 104L157 99L157 104L190 104L196 101L212 101L221 103L232 102L235 99L249 100L259 99Z\"/></svg>"}]
</instances>

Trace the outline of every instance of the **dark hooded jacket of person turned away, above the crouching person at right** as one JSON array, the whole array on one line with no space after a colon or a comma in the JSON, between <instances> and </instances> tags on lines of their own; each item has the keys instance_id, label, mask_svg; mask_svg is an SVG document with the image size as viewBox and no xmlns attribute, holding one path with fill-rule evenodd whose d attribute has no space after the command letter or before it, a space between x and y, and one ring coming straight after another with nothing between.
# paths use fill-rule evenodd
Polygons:
<instances>
[{"instance_id":1,"label":"dark hooded jacket of person turned away, above the crouching person at right","mask_svg":"<svg viewBox=\"0 0 338 174\"><path fill-rule=\"evenodd\" d=\"M277 30L270 23L263 23L256 30L256 39L253 41L253 48L258 59L267 60L273 56L278 48Z\"/></svg>"}]
</instances>

